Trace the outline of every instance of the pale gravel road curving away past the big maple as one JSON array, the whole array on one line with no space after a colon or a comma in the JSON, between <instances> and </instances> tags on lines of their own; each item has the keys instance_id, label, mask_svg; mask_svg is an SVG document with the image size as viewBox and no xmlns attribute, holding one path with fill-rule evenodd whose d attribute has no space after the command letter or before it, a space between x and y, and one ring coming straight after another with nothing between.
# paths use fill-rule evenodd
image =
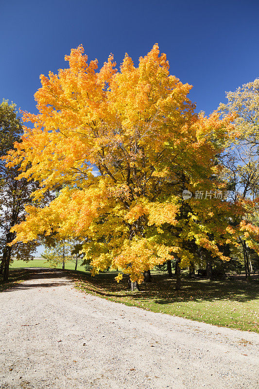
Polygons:
<instances>
[{"instance_id":1,"label":"pale gravel road curving away past the big maple","mask_svg":"<svg viewBox=\"0 0 259 389\"><path fill-rule=\"evenodd\" d=\"M1 389L253 389L255 333L85 295L61 271L0 293Z\"/></svg>"}]
</instances>

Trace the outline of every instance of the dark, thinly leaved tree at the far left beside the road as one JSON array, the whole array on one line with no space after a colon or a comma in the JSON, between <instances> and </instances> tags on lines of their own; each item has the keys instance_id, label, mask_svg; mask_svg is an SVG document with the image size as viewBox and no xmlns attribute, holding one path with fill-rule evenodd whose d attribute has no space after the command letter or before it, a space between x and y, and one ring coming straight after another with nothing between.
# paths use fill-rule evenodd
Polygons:
<instances>
[{"instance_id":1,"label":"dark, thinly leaved tree at the far left beside the road","mask_svg":"<svg viewBox=\"0 0 259 389\"><path fill-rule=\"evenodd\" d=\"M30 195L36 188L33 181L16 179L19 165L14 164L11 168L5 165L4 156L13 148L15 141L20 141L21 133L22 123L17 117L16 105L3 100L0 105L0 273L3 272L4 281L8 281L11 255L29 261L33 259L37 247L35 240L9 245L16 237L11 229L25 219L24 205L31 202Z\"/></svg>"}]
</instances>

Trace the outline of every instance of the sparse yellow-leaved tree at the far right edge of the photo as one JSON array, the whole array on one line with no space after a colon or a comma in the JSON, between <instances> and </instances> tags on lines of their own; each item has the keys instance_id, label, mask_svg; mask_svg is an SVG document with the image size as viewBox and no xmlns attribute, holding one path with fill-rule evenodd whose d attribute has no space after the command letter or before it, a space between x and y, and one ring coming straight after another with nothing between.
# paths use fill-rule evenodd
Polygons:
<instances>
[{"instance_id":1,"label":"sparse yellow-leaved tree at the far right edge of the photo","mask_svg":"<svg viewBox=\"0 0 259 389\"><path fill-rule=\"evenodd\" d=\"M242 247L246 276L249 277L248 248L258 252L259 204L259 79L242 85L226 94L227 104L220 112L234 116L233 137L224 161L224 175L234 190L242 192L244 213L235 221L240 225L239 242ZM245 202L245 198L247 201ZM246 204L245 204L246 203Z\"/></svg>"}]
</instances>

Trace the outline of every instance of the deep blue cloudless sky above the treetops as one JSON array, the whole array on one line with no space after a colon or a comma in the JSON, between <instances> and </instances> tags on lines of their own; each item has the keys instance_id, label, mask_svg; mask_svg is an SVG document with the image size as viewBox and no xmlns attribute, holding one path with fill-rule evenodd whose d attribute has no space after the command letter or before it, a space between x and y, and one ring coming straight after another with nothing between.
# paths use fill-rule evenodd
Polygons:
<instances>
[{"instance_id":1,"label":"deep blue cloudless sky above the treetops","mask_svg":"<svg viewBox=\"0 0 259 389\"><path fill-rule=\"evenodd\" d=\"M258 0L1 0L0 9L0 100L30 112L39 75L67 67L80 44L102 66L125 52L137 64L158 43L207 114L259 77Z\"/></svg>"}]
</instances>

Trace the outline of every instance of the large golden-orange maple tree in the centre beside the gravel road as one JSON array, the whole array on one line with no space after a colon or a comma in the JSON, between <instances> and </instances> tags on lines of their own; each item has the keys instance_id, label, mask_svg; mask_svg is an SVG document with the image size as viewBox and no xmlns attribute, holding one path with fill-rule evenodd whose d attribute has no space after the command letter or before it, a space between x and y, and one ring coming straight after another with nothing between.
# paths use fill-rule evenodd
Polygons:
<instances>
[{"instance_id":1,"label":"large golden-orange maple tree in the centre beside the gravel road","mask_svg":"<svg viewBox=\"0 0 259 389\"><path fill-rule=\"evenodd\" d=\"M176 259L180 267L197 259L197 247L227 260L221 250L235 244L231 215L239 202L213 196L226 189L218 177L218 156L231 136L231 114L220 118L194 112L191 86L170 75L158 46L139 58L125 54L120 71L113 56L98 71L79 46L65 56L68 69L40 76L38 114L24 112L22 142L9 153L20 177L40 182L35 201L62 186L46 207L28 206L13 241L38 235L70 236L85 243L92 274L108 266L130 277L131 287L155 265ZM182 198L183 190L206 199Z\"/></svg>"}]
</instances>

